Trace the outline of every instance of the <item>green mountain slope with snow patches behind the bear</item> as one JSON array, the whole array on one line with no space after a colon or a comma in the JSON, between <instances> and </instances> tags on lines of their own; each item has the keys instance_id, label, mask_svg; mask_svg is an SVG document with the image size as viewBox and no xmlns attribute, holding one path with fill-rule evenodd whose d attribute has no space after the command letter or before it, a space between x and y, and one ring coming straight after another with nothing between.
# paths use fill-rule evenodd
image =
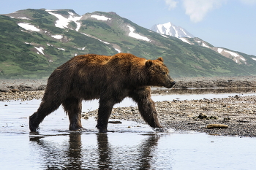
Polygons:
<instances>
[{"instance_id":1,"label":"green mountain slope with snow patches behind the bear","mask_svg":"<svg viewBox=\"0 0 256 170\"><path fill-rule=\"evenodd\" d=\"M25 9L0 15L0 52L2 78L48 77L75 55L120 52L148 59L162 57L173 77L256 74L253 55L243 54L246 62L236 63L218 50L162 36L115 12L80 16L71 9Z\"/></svg>"}]
</instances>

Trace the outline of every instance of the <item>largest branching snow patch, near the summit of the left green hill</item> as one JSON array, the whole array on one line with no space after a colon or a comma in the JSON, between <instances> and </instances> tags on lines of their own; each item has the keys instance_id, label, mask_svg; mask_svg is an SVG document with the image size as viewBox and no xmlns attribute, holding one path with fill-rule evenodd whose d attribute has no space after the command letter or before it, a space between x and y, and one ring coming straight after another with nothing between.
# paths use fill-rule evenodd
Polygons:
<instances>
[{"instance_id":1,"label":"largest branching snow patch, near the summit of the left green hill","mask_svg":"<svg viewBox=\"0 0 256 170\"><path fill-rule=\"evenodd\" d=\"M56 16L56 18L58 18L59 20L56 20L55 26L59 27L59 28L67 28L67 25L69 25L69 22L74 21L77 24L77 28L75 29L75 31L78 31L80 29L81 23L78 23L78 20L80 20L82 17L75 17L74 13L69 12L69 18L64 18L62 15L59 14L55 14L53 12L53 10L48 10L46 9L45 11L47 11L50 15L54 15Z\"/></svg>"}]
</instances>

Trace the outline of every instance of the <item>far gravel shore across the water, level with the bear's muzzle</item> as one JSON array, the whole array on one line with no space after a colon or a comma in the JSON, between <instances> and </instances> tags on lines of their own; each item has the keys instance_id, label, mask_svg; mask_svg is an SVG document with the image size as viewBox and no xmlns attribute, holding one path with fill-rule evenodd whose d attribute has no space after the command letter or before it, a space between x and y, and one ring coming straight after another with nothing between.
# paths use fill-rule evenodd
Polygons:
<instances>
[{"instance_id":1,"label":"far gravel shore across the water, level with the bear's muzzle","mask_svg":"<svg viewBox=\"0 0 256 170\"><path fill-rule=\"evenodd\" d=\"M202 93L213 91L244 91L256 88L256 76L248 77L179 77L171 89L151 88L152 94L166 95L171 93ZM0 101L31 100L42 98L47 80L0 80Z\"/></svg>"}]
</instances>

